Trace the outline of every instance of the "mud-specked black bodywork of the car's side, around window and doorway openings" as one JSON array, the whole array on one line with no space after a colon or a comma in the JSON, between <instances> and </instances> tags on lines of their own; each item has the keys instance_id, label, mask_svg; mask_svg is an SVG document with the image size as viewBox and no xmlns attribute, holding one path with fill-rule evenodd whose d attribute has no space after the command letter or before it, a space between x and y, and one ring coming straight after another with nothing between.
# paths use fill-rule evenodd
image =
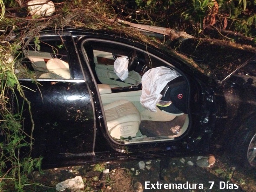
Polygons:
<instances>
[{"instance_id":1,"label":"mud-specked black bodywork of the car's side, around window and doorway openings","mask_svg":"<svg viewBox=\"0 0 256 192\"><path fill-rule=\"evenodd\" d=\"M43 32L41 38L55 35L56 33ZM96 79L85 64L80 50L81 42L88 38L115 38L116 41L142 49L144 44L108 33L67 30L62 35L72 61L73 79L38 80L42 86L32 80L20 79L21 85L35 91L25 89L25 95L31 101L35 123L32 157L43 156L45 168L81 165L86 162L207 154L211 152L209 148L213 144L231 136L231 133L239 130L248 116L255 113L253 83L246 84L239 75L230 77L222 84L215 83L200 73L191 73L190 68L175 57L149 46L148 52L172 63L185 74L190 83L190 129L170 142L129 145L116 142L105 128ZM25 124L29 128L29 114L25 111L24 115L27 116Z\"/></svg>"}]
</instances>

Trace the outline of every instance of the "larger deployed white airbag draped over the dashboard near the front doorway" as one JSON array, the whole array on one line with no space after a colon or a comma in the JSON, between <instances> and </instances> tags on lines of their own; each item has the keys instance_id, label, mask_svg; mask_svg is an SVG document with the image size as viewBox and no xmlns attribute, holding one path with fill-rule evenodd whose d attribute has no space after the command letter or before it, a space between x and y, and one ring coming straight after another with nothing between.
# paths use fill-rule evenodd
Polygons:
<instances>
[{"instance_id":1,"label":"larger deployed white airbag draped over the dashboard near the front doorway","mask_svg":"<svg viewBox=\"0 0 256 192\"><path fill-rule=\"evenodd\" d=\"M148 70L141 78L142 93L140 102L146 109L156 112L156 104L162 98L160 92L168 82L179 75L167 67L156 67Z\"/></svg>"}]
</instances>

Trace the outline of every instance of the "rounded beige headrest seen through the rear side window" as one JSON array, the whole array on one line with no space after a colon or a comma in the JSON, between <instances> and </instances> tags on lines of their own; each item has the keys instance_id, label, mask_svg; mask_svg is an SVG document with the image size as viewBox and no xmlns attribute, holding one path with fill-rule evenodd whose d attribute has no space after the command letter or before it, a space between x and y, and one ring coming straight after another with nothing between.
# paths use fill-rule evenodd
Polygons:
<instances>
[{"instance_id":1,"label":"rounded beige headrest seen through the rear side window","mask_svg":"<svg viewBox=\"0 0 256 192\"><path fill-rule=\"evenodd\" d=\"M50 72L53 72L65 79L70 79L69 65L67 62L53 58L47 61L46 67Z\"/></svg>"}]
</instances>

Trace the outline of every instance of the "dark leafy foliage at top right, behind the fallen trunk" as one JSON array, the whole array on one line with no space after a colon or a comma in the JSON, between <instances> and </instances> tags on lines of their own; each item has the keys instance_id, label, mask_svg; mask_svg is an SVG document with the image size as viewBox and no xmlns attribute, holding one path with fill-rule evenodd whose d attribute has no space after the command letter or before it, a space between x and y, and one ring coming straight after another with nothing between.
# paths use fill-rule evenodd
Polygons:
<instances>
[{"instance_id":1,"label":"dark leafy foliage at top right, behind the fallen trunk","mask_svg":"<svg viewBox=\"0 0 256 192\"><path fill-rule=\"evenodd\" d=\"M214 26L250 37L256 36L255 0L134 0L129 2L112 0L111 2L122 7L122 15L133 22L185 30L194 35L203 32L204 28Z\"/></svg>"}]
</instances>

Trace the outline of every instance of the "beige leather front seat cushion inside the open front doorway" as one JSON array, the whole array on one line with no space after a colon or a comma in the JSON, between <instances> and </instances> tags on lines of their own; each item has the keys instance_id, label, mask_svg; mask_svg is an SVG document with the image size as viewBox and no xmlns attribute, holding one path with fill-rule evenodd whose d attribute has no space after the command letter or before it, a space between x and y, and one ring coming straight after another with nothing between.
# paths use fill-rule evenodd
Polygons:
<instances>
[{"instance_id":1,"label":"beige leather front seat cushion inside the open front doorway","mask_svg":"<svg viewBox=\"0 0 256 192\"><path fill-rule=\"evenodd\" d=\"M113 138L135 137L139 131L140 112L133 103L120 100L104 106L108 131Z\"/></svg>"}]
</instances>

